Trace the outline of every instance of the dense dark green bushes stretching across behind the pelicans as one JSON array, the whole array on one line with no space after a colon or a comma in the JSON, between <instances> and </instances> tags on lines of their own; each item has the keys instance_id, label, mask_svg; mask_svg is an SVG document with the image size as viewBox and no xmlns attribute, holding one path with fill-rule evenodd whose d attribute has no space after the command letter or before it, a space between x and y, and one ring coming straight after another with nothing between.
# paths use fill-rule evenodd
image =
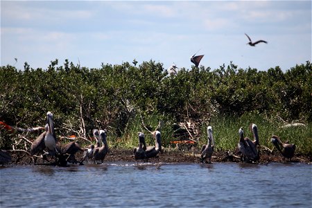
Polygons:
<instances>
[{"instance_id":1,"label":"dense dark green bushes stretching across behind the pelicans","mask_svg":"<svg viewBox=\"0 0 312 208\"><path fill-rule=\"evenodd\" d=\"M247 129L249 122L259 122L259 134L270 146L270 135L283 136L278 129L283 122L301 121L311 129L311 74L309 61L285 72L279 67L240 69L231 62L214 70L182 68L176 76L169 76L162 63L153 60L139 66L102 64L100 69L68 60L32 69L25 62L24 70L0 67L0 121L22 128L43 126L51 111L58 135L86 138L93 128L106 128L114 146L137 145L137 132L146 131L142 121L150 130L162 121L164 146L173 139L173 123L180 122L193 124L198 129L194 138L203 143L210 122L220 148L237 144L241 125ZM269 130L264 132L264 126ZM309 128L295 132L309 141L308 145L297 141L305 153L312 151ZM1 130L0 147L8 148L10 137Z\"/></svg>"}]
</instances>

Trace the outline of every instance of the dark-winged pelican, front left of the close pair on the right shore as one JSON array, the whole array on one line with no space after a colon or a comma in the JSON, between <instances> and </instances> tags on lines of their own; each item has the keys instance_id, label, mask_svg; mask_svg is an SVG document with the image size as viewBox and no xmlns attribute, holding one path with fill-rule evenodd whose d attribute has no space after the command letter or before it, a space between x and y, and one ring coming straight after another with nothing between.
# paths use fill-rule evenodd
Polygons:
<instances>
[{"instance_id":1,"label":"dark-winged pelican, front left of the close pair on the right shore","mask_svg":"<svg viewBox=\"0 0 312 208\"><path fill-rule=\"evenodd\" d=\"M239 129L239 151L242 153L242 158L246 162L246 157L252 161L257 160L259 155L254 143L248 138L244 138L243 128Z\"/></svg>"}]
</instances>

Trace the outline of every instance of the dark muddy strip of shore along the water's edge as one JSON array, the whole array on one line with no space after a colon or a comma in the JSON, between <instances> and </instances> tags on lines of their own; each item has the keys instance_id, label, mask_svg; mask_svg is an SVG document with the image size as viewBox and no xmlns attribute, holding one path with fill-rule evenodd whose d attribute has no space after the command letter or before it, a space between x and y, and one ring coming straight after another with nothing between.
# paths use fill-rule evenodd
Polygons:
<instances>
[{"instance_id":1,"label":"dark muddy strip of shore along the water's edge","mask_svg":"<svg viewBox=\"0 0 312 208\"><path fill-rule=\"evenodd\" d=\"M11 152L12 161L8 164L15 165L32 165L33 159L29 154L23 152ZM76 159L80 161L83 157L83 153L77 153ZM148 159L148 162L162 162L162 163L200 163L200 155L196 151L183 151L183 150L164 150L163 153L159 154L158 158ZM53 159L51 160L53 161ZM214 162L241 162L239 158L233 157L230 153L226 151L214 152L211 161ZM104 162L135 162L132 149L120 149L111 148L110 152L105 157ZM268 164L270 162L284 162L284 157L278 152L267 153L263 152L260 155L260 164ZM288 160L286 160L288 162ZM311 155L295 155L291 159L291 162L302 162L306 164L311 164ZM83 162L84 164L92 163ZM37 164L42 164L42 159L37 159ZM46 162L45 162L46 164Z\"/></svg>"}]
</instances>

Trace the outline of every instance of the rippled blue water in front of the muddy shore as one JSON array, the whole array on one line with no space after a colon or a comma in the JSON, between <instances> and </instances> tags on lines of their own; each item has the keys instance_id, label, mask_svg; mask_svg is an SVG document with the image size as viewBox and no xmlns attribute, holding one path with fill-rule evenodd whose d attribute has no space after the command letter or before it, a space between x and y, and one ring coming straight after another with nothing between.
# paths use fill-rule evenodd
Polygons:
<instances>
[{"instance_id":1,"label":"rippled blue water in front of the muddy shore","mask_svg":"<svg viewBox=\"0 0 312 208\"><path fill-rule=\"evenodd\" d=\"M311 207L308 164L0 167L0 207Z\"/></svg>"}]
</instances>

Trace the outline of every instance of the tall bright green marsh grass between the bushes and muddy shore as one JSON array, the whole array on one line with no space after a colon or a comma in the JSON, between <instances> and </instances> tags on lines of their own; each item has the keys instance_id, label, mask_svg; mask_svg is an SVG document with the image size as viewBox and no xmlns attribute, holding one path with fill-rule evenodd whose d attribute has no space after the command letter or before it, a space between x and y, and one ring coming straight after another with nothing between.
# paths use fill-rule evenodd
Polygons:
<instances>
[{"instance_id":1,"label":"tall bright green marsh grass between the bushes and muddy shore","mask_svg":"<svg viewBox=\"0 0 312 208\"><path fill-rule=\"evenodd\" d=\"M173 130L171 128L174 123L171 119L162 117L162 146L169 147L170 141L173 141ZM159 116L152 115L145 118L145 124L150 131L155 130L159 122ZM297 154L312 155L312 123L306 126L282 128L284 123L278 119L268 118L268 116L257 112L243 114L237 116L218 116L211 118L209 125L212 126L215 140L215 150L235 150L239 143L239 128L243 127L245 137L253 139L250 131L250 124L255 123L258 127L259 140L261 146L266 146L271 150L274 148L270 142L272 135L281 137L281 141L288 141L296 144ZM150 132L141 125L139 116L132 119L127 126L125 134L119 139L113 140L110 145L121 148L134 148L138 145L138 132L144 132L146 135L146 144L154 145L154 140ZM200 126L200 134L198 139L198 149L207 143L207 124Z\"/></svg>"}]
</instances>

